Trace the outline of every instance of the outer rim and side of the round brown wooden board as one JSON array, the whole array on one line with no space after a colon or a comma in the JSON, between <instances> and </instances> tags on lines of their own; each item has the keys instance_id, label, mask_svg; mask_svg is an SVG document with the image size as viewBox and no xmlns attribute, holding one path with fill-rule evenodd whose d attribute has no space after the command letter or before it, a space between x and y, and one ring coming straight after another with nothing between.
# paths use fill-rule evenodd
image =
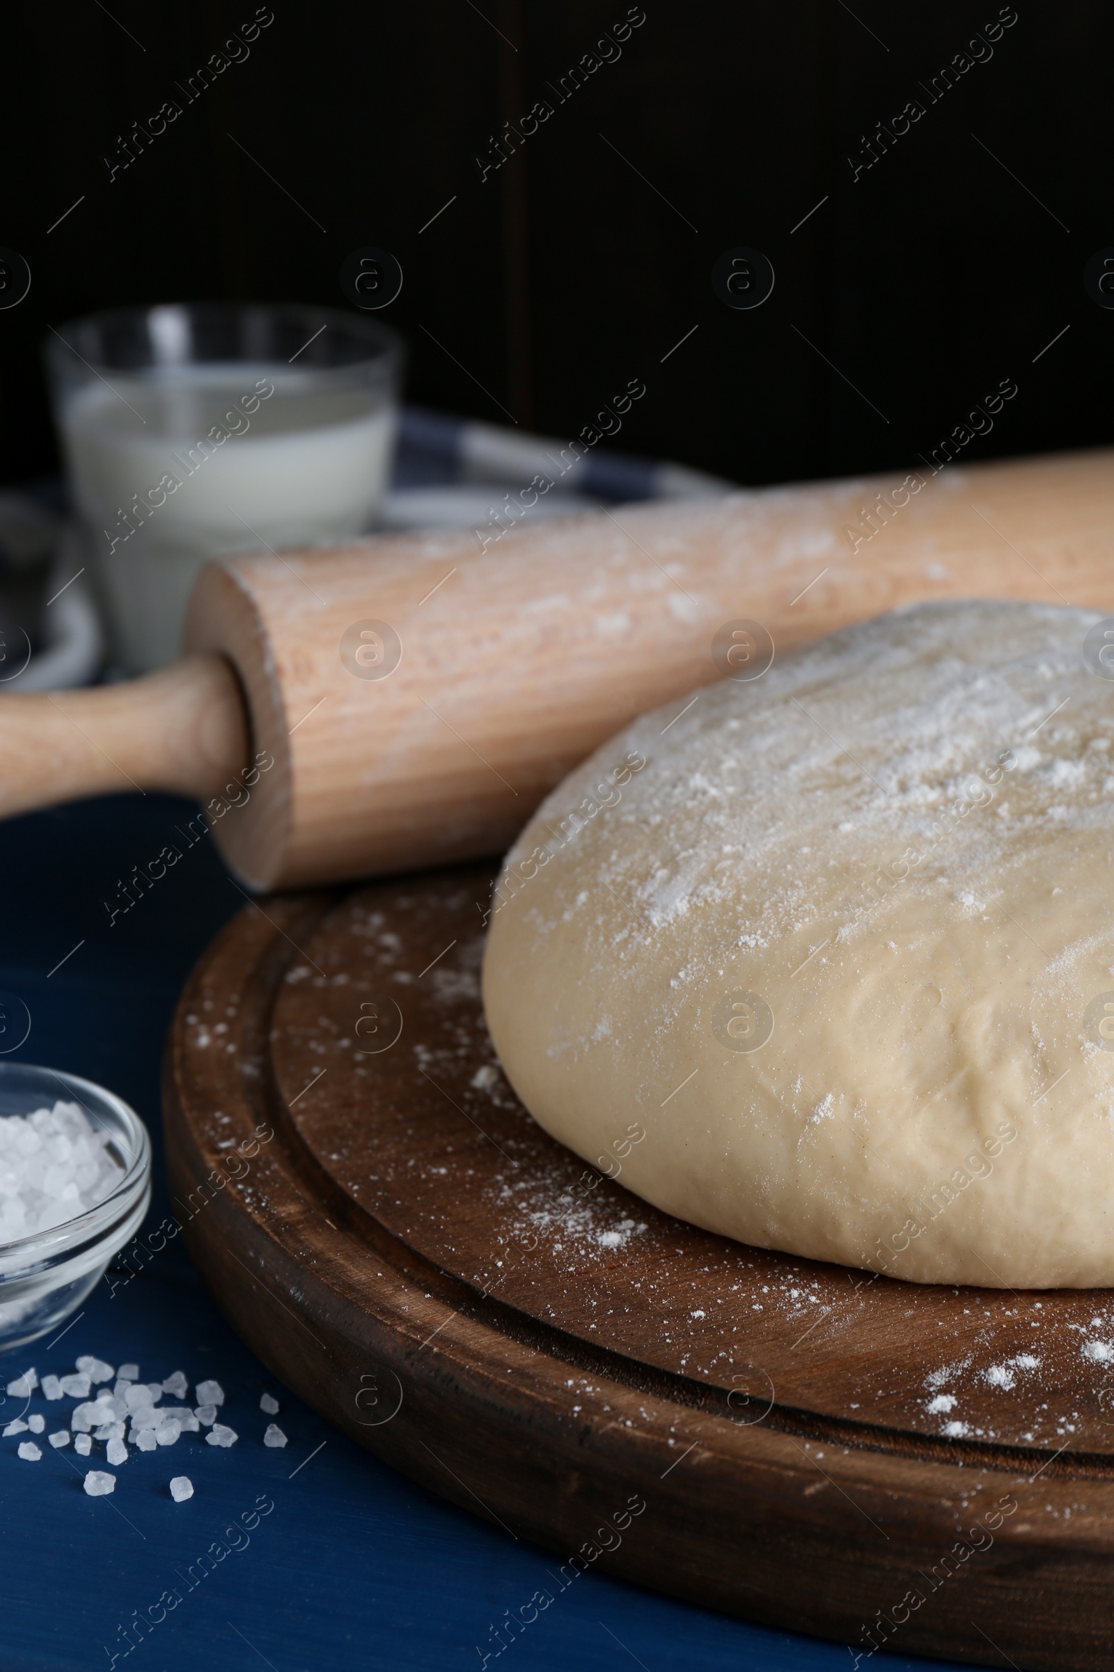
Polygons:
<instances>
[{"instance_id":1,"label":"outer rim and side of the round brown wooden board","mask_svg":"<svg viewBox=\"0 0 1114 1672\"><path fill-rule=\"evenodd\" d=\"M257 966L281 966L284 930L242 921L251 910L202 958L179 1015L246 931ZM175 1028L164 1119L179 1202L204 1192L222 1160L199 1132L190 1075ZM251 1135L261 1115L276 1117L272 1099L264 1077L224 1087L229 1130ZM1046 1476L1037 1486L985 1466L960 1476L959 1450L959 1466L838 1445L833 1455L828 1441L813 1446L728 1411L648 1398L598 1371L583 1376L489 1321L446 1311L414 1272L413 1254L386 1232L371 1264L349 1231L334 1226L329 1237L281 1132L266 1167L266 1211L257 1187L229 1180L207 1200L202 1194L204 1212L182 1227L224 1314L349 1438L513 1537L554 1550L558 1580L598 1563L688 1602L852 1642L860 1654L875 1620L890 1652L995 1665L997 1645L1037 1672L1106 1664L1114 1634L1114 1483L1106 1478L1086 1481L1091 1515L1051 1522L1042 1506L1057 1505L1061 1517L1077 1506L1079 1480ZM354 1267L357 1291L346 1281ZM979 1523L984 1548L970 1538L979 1511L964 1520L954 1510L977 1485L987 1486L987 1505L999 1496L1017 1505L992 1533ZM633 1513L631 1500L646 1508ZM967 1555L949 1558L959 1543ZM927 1575L940 1572L959 1583L932 1585ZM930 1588L909 1608L902 1598L917 1573ZM902 1608L909 1618L894 1622Z\"/></svg>"}]
</instances>

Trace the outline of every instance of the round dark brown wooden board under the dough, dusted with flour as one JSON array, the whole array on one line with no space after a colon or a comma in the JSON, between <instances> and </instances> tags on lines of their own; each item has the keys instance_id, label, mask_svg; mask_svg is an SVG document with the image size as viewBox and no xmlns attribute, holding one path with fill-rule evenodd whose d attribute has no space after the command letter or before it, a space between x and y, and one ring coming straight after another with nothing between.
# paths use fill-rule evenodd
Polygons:
<instances>
[{"instance_id":1,"label":"round dark brown wooden board under the dough, dusted with flour","mask_svg":"<svg viewBox=\"0 0 1114 1672\"><path fill-rule=\"evenodd\" d=\"M361 1445L556 1552L554 1595L595 1568L860 1657L1106 1667L1111 1294L870 1279L585 1167L494 1062L489 883L272 896L190 976L170 1189L232 1324Z\"/></svg>"}]
</instances>

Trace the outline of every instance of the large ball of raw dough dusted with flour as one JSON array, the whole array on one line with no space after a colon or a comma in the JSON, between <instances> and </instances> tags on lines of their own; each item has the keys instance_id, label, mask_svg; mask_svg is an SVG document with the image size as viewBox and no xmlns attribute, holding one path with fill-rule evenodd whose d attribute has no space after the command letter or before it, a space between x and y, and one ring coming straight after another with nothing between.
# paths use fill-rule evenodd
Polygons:
<instances>
[{"instance_id":1,"label":"large ball of raw dough dusted with flour","mask_svg":"<svg viewBox=\"0 0 1114 1672\"><path fill-rule=\"evenodd\" d=\"M917 605L596 751L493 903L488 1025L541 1125L743 1242L1114 1284L1104 629Z\"/></svg>"}]
</instances>

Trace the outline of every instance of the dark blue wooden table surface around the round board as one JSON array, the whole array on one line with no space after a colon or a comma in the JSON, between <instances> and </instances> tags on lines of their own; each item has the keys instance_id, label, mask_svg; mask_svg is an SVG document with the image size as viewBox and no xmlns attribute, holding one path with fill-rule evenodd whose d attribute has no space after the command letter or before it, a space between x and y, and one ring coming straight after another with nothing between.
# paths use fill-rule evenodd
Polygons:
<instances>
[{"instance_id":1,"label":"dark blue wooden table surface around the round board","mask_svg":"<svg viewBox=\"0 0 1114 1672\"><path fill-rule=\"evenodd\" d=\"M185 973L244 896L207 839L112 928L104 903L117 901L117 879L157 854L192 811L129 796L0 824L0 988L32 1017L13 1058L87 1075L139 1110L155 1144L154 1219L170 1206L162 1042ZM184 1435L172 1450L134 1453L107 1498L84 1493L85 1465L72 1446L43 1446L40 1463L25 1463L15 1438L0 1440L0 1672L474 1672L484 1655L499 1672L852 1667L843 1647L611 1580L606 1558L498 1652L504 1613L536 1590L556 1592L554 1558L396 1475L277 1386L177 1242L142 1277L102 1282L53 1346L38 1341L0 1359L0 1378L28 1361L62 1374L78 1353L134 1361L144 1379L184 1369L192 1386L214 1376L227 1391L222 1416L241 1438L217 1450ZM264 1389L281 1399L286 1450L262 1445ZM37 1396L32 1409L43 1411L50 1433L72 1403ZM8 1396L0 1418L22 1404ZM179 1473L195 1488L180 1505L167 1490ZM872 1662L879 1672L912 1664Z\"/></svg>"}]
</instances>

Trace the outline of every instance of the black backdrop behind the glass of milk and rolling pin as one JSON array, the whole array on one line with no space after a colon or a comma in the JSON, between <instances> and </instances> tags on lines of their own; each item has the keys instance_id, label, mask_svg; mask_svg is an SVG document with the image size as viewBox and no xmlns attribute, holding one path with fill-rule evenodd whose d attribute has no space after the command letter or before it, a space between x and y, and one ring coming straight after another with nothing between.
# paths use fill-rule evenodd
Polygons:
<instances>
[{"instance_id":1,"label":"black backdrop behind the glass of milk and rolling pin","mask_svg":"<svg viewBox=\"0 0 1114 1672\"><path fill-rule=\"evenodd\" d=\"M645 0L621 59L483 184L504 117L625 0L274 0L190 105L174 82L254 3L110 12L10 13L0 244L32 289L0 313L8 482L57 468L47 323L214 296L349 306L337 271L366 244L406 274L381 318L409 343L408 398L493 423L571 436L641 376L620 446L762 483L912 465L1014 378L970 461L1112 438L1114 313L1082 288L1114 244L1109 7L1017 0L994 57L929 104L919 84L995 0ZM925 115L852 181L860 135L914 97ZM110 182L102 159L164 99L182 115ZM777 271L753 311L710 284L740 244Z\"/></svg>"}]
</instances>

